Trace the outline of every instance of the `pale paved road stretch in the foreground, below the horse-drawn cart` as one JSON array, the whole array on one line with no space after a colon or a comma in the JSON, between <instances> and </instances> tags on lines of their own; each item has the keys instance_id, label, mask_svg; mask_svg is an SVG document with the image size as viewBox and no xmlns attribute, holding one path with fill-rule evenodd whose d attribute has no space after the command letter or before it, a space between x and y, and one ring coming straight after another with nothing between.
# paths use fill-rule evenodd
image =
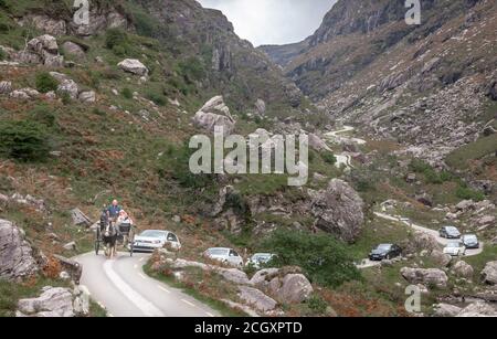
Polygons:
<instances>
[{"instance_id":1,"label":"pale paved road stretch in the foreground, below the horse-drawn cart","mask_svg":"<svg viewBox=\"0 0 497 339\"><path fill-rule=\"evenodd\" d=\"M216 317L218 311L179 289L148 277L142 266L149 255L119 253L116 259L87 253L75 258L83 265L82 285L114 317Z\"/></svg>"}]
</instances>

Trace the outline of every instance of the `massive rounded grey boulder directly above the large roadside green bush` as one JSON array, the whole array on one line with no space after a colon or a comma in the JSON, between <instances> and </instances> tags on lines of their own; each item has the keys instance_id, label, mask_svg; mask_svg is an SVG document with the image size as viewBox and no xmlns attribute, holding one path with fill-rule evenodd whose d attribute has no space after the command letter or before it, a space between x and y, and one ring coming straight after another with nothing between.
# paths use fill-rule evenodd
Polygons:
<instances>
[{"instance_id":1,"label":"massive rounded grey boulder directly above the large roadside green bush","mask_svg":"<svg viewBox=\"0 0 497 339\"><path fill-rule=\"evenodd\" d=\"M326 190L313 197L311 211L316 226L353 243L362 230L363 201L345 181L334 179Z\"/></svg>"}]
</instances>

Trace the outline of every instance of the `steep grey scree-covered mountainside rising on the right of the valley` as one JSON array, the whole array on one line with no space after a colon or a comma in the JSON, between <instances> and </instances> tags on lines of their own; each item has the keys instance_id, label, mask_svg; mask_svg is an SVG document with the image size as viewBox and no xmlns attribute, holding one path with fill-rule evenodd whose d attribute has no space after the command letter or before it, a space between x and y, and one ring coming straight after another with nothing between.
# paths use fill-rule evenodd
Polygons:
<instances>
[{"instance_id":1,"label":"steep grey scree-covered mountainside rising on the right of the valley","mask_svg":"<svg viewBox=\"0 0 497 339\"><path fill-rule=\"evenodd\" d=\"M305 42L263 50L334 118L413 146L405 151L434 165L479 137L487 151L477 158L491 155L497 6L422 7L422 24L408 25L404 1L338 1Z\"/></svg>"}]
</instances>

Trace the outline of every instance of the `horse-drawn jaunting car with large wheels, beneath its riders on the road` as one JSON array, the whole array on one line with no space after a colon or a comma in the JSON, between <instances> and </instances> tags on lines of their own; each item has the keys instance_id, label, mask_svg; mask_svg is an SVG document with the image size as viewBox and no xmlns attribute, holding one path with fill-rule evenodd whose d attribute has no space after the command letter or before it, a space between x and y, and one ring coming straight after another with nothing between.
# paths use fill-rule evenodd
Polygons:
<instances>
[{"instance_id":1,"label":"horse-drawn jaunting car with large wheels, beneath its riders on the road","mask_svg":"<svg viewBox=\"0 0 497 339\"><path fill-rule=\"evenodd\" d=\"M117 223L116 220L102 222L95 232L95 254L98 255L101 248L105 256L113 258L117 250L134 252L135 227L129 223Z\"/></svg>"}]
</instances>

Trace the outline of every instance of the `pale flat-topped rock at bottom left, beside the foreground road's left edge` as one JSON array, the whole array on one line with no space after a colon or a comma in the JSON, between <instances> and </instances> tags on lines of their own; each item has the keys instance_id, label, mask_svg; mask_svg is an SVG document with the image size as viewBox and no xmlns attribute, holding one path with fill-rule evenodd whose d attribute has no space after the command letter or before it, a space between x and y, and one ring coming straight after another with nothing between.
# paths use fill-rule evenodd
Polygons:
<instances>
[{"instance_id":1,"label":"pale flat-topped rock at bottom left, beside the foreground road's left edge","mask_svg":"<svg viewBox=\"0 0 497 339\"><path fill-rule=\"evenodd\" d=\"M21 299L18 317L74 317L73 294L68 288L44 287L38 298Z\"/></svg>"}]
</instances>

